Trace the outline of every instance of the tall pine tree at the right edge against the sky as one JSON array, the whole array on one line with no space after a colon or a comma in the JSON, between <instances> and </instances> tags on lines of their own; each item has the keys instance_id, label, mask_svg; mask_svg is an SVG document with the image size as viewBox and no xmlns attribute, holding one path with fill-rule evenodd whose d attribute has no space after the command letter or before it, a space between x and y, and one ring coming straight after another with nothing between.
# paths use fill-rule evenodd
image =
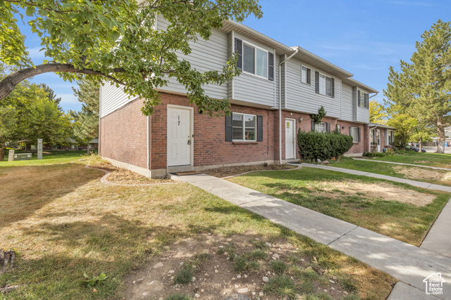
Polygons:
<instances>
[{"instance_id":1,"label":"tall pine tree at the right edge against the sky","mask_svg":"<svg viewBox=\"0 0 451 300\"><path fill-rule=\"evenodd\" d=\"M438 134L437 152L443 153L445 127L451 124L451 27L438 20L416 42L410 63L401 60L400 72L390 67L389 105L404 107L425 127Z\"/></svg>"}]
</instances>

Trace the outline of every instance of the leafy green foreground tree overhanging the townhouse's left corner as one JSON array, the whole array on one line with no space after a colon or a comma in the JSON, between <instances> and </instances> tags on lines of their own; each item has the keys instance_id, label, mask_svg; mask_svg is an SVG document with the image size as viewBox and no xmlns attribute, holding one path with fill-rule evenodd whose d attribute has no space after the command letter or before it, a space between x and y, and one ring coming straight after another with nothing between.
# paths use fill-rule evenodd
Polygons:
<instances>
[{"instance_id":1,"label":"leafy green foreground tree overhanging the townhouse's left corner","mask_svg":"<svg viewBox=\"0 0 451 300\"><path fill-rule=\"evenodd\" d=\"M15 18L20 8L51 61L32 64ZM209 39L211 28L221 27L223 20L240 22L251 14L261 18L258 0L151 0L140 6L134 0L3 0L0 59L20 70L0 81L0 100L24 79L58 72L70 81L85 77L122 85L126 93L144 99L142 112L150 115L160 102L156 89L172 77L200 110L228 112L228 100L209 98L202 86L226 84L240 74L235 55L222 72L199 72L179 60L178 53L190 54L190 42ZM167 30L155 30L156 15L171 24Z\"/></svg>"}]
</instances>

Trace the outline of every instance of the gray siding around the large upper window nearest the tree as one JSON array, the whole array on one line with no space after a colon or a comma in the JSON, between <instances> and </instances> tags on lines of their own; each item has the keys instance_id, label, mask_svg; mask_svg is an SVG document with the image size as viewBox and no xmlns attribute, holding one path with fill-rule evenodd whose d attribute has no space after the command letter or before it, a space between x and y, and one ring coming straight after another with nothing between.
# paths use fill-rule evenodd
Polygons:
<instances>
[{"instance_id":1,"label":"gray siding around the large upper window nearest the tree","mask_svg":"<svg viewBox=\"0 0 451 300\"><path fill-rule=\"evenodd\" d=\"M266 51L274 52L273 49L268 48L262 44L247 39L246 37L235 34L235 37L242 39L243 43L250 43L263 48ZM278 56L275 57L274 63L274 81L257 77L254 74L242 72L239 77L233 79L235 95L233 99L241 100L249 103L256 103L272 107L274 105L274 98L278 102ZM276 82L276 84L274 84Z\"/></svg>"}]
</instances>

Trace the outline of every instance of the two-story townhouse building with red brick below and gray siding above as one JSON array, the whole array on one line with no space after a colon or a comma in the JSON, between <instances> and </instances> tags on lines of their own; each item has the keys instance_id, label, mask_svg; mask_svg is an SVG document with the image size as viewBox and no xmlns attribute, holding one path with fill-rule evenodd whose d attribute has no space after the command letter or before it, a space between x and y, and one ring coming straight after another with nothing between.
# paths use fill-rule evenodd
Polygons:
<instances>
[{"instance_id":1,"label":"two-story townhouse building with red brick below and gray siding above","mask_svg":"<svg viewBox=\"0 0 451 300\"><path fill-rule=\"evenodd\" d=\"M168 23L157 18L156 26L164 30ZM149 117L140 111L142 99L102 86L100 154L157 178L173 171L299 159L299 129L349 134L354 145L347 155L369 149L369 98L378 91L303 48L226 21L208 41L192 44L190 56L180 58L200 71L221 71L234 51L242 74L227 85L204 86L211 98L230 100L227 117L204 115L175 80L161 91L161 104ZM321 105L327 115L315 124L310 115Z\"/></svg>"}]
</instances>

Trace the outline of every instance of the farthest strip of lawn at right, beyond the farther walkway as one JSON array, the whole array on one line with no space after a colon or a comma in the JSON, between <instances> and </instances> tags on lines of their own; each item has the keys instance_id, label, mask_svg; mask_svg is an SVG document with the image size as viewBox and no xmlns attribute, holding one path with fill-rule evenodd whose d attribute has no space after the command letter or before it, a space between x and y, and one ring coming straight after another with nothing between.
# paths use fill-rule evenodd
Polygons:
<instances>
[{"instance_id":1,"label":"farthest strip of lawn at right, beyond the farther walkway","mask_svg":"<svg viewBox=\"0 0 451 300\"><path fill-rule=\"evenodd\" d=\"M451 154L419 153L409 151L404 155L375 157L374 159L383 160L385 162L402 162L404 164L419 164L424 166L451 169Z\"/></svg>"}]
</instances>

